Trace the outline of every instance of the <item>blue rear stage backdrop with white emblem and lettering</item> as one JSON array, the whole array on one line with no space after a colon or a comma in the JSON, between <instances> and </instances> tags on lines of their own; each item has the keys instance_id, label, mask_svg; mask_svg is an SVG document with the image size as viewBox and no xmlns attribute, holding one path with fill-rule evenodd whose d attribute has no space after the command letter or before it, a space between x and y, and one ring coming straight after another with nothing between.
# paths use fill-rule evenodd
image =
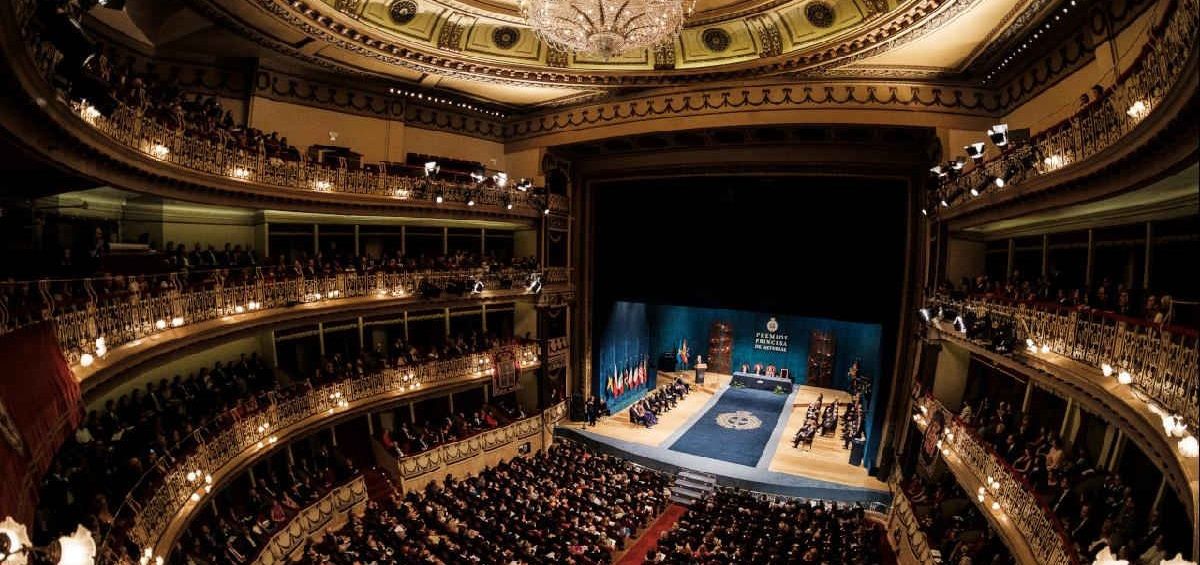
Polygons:
<instances>
[{"instance_id":1,"label":"blue rear stage backdrop with white emblem and lettering","mask_svg":"<svg viewBox=\"0 0 1200 565\"><path fill-rule=\"evenodd\" d=\"M871 390L880 390L882 329L877 324L740 309L652 306L649 307L649 326L654 338L652 345L654 355L670 351L674 354L677 361L686 356L688 367L696 362L697 354L708 361L710 357L708 351L709 331L715 323L727 324L732 332L730 360L733 371L738 371L743 363L749 365L751 369L755 363L761 363L763 367L774 365L778 369L787 368L793 383L805 384L809 371L810 335L812 331L827 331L835 339L832 387L848 390L850 366L854 360L862 360L860 371L871 378ZM874 427L878 396L877 393L871 395L866 405L866 445L864 446L863 461L868 465L878 445Z\"/></svg>"}]
</instances>

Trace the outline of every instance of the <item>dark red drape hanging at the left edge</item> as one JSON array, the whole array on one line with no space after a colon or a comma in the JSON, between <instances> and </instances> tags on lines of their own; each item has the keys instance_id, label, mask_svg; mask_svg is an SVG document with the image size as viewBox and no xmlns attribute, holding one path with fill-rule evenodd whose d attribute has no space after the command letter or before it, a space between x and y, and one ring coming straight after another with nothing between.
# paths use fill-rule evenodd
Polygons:
<instances>
[{"instance_id":1,"label":"dark red drape hanging at the left edge","mask_svg":"<svg viewBox=\"0 0 1200 565\"><path fill-rule=\"evenodd\" d=\"M49 323L0 336L0 519L32 522L42 475L82 414Z\"/></svg>"}]
</instances>

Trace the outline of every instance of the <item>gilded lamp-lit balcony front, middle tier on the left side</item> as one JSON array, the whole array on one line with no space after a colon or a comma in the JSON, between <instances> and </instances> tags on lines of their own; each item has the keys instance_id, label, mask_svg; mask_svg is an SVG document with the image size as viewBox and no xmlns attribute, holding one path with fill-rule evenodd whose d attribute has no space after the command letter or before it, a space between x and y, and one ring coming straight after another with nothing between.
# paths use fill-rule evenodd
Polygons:
<instances>
[{"instance_id":1,"label":"gilded lamp-lit balcony front, middle tier on the left side","mask_svg":"<svg viewBox=\"0 0 1200 565\"><path fill-rule=\"evenodd\" d=\"M533 277L544 284L542 289L530 289ZM542 293L566 290L569 277L568 269L551 268L259 280L192 291L131 295L107 303L86 302L71 311L62 311L62 305L49 300L42 318L54 324L59 347L73 365L76 378L86 393L139 359L167 354L198 339L335 312L352 315L380 307L434 301L449 284L466 281L482 282L484 288L480 291L466 289L456 300L541 297ZM0 335L18 323L2 315L0 321Z\"/></svg>"}]
</instances>

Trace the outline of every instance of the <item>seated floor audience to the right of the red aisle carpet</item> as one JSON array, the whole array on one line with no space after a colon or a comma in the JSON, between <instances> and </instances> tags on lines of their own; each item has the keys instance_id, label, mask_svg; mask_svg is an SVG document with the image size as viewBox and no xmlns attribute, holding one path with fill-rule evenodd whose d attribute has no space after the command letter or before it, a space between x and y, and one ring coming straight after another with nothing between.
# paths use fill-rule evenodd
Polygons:
<instances>
[{"instance_id":1,"label":"seated floor audience to the right of the red aisle carpet","mask_svg":"<svg viewBox=\"0 0 1200 565\"><path fill-rule=\"evenodd\" d=\"M862 506L718 488L664 531L643 563L881 564L881 535Z\"/></svg>"}]
</instances>

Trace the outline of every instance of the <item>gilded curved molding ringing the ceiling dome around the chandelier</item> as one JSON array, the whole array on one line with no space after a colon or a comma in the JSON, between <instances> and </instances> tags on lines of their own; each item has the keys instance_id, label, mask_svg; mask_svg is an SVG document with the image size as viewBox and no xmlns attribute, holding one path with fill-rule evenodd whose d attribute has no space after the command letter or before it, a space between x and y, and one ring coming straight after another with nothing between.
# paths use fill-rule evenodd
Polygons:
<instances>
[{"instance_id":1,"label":"gilded curved molding ringing the ceiling dome around the chandelier","mask_svg":"<svg viewBox=\"0 0 1200 565\"><path fill-rule=\"evenodd\" d=\"M193 1L220 2L229 0ZM563 65L563 61L556 60L552 54L545 54L544 59L539 59L539 61L544 61L541 64L532 64L528 60L493 60L491 54L478 50L468 53L431 46L413 46L410 44L413 40L409 36L400 36L356 19L358 14L367 13L368 2L356 4L353 13L344 13L332 10L332 6L320 4L319 0L312 0L319 6L310 5L304 0L254 1L269 13L311 37L355 55L389 65L475 82L596 89L745 79L820 65L833 66L834 61L839 61L836 64L840 65L840 61L847 60L856 53L869 50L883 43L895 44L894 37L911 35L929 25L929 20L946 12L943 10L946 6L961 6L964 2L970 5L974 0L910 0L904 6L894 7L886 14L878 12L881 7L886 6L882 4L884 0L857 0L862 4L848 4L858 11L857 14L848 19L839 17L845 25L844 28L821 35L808 44L793 44L796 37L803 38L803 34L796 35L794 24L790 24L790 22L796 22L794 14L781 17L780 11L756 14L748 18L746 24L740 24L743 25L740 35L744 37L743 41L755 42L754 53L757 55L738 55L742 60L732 64L721 59L706 64L680 62L679 54L683 49L676 49L676 66L670 72L664 72L664 67L667 65L664 65L665 61L661 60L661 56L644 54L635 59L636 64L612 61L608 65L611 68L604 68L602 61L586 61L586 65L581 66L580 58L570 58L565 67L559 67L558 65ZM845 6L841 10L845 10ZM803 5L797 2L790 2L787 7L803 12ZM217 12L223 11L218 10ZM864 20L869 20L870 29L856 28ZM475 25L487 25L487 23L481 22L482 18L475 18ZM788 25L792 26L791 34L781 32L780 29L787 29ZM812 29L816 30L815 26ZM528 30L523 30L523 34L528 34ZM470 35L472 31L463 34L463 36ZM892 43L888 43L889 41ZM449 46L445 41L439 43ZM461 49L462 44L460 43L457 47ZM540 49L540 52L545 53L545 49ZM325 62L344 65L328 58L325 58Z\"/></svg>"}]
</instances>

